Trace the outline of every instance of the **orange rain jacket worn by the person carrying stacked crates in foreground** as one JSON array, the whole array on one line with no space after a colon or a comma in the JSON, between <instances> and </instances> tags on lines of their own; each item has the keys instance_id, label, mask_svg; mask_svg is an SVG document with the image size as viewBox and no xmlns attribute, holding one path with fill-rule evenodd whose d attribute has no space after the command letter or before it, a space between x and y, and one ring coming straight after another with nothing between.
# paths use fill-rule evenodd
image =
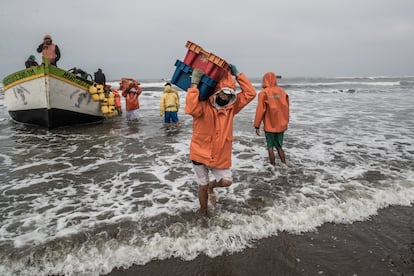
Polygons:
<instances>
[{"instance_id":1,"label":"orange rain jacket worn by the person carrying stacked crates in foreground","mask_svg":"<svg viewBox=\"0 0 414 276\"><path fill-rule=\"evenodd\" d=\"M234 95L224 107L215 104L215 97L223 87L236 89L230 72L220 80L215 94L207 101L198 101L197 88L187 90L185 113L193 116L191 160L213 168L231 167L233 118L256 96L256 90L243 73L240 73L236 79L242 91Z\"/></svg>"}]
</instances>

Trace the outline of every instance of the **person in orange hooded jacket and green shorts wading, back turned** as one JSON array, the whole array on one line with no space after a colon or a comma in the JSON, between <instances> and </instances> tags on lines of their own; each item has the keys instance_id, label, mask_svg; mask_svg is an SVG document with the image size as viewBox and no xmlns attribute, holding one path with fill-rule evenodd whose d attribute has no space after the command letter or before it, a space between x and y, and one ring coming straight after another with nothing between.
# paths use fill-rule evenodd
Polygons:
<instances>
[{"instance_id":1,"label":"person in orange hooded jacket and green shorts wading, back turned","mask_svg":"<svg viewBox=\"0 0 414 276\"><path fill-rule=\"evenodd\" d=\"M286 165L282 146L283 135L289 124L289 96L277 85L276 74L273 72L264 74L262 87L254 118L256 134L260 136L260 124L263 122L270 164L276 164L273 151L275 147L280 161Z\"/></svg>"}]
</instances>

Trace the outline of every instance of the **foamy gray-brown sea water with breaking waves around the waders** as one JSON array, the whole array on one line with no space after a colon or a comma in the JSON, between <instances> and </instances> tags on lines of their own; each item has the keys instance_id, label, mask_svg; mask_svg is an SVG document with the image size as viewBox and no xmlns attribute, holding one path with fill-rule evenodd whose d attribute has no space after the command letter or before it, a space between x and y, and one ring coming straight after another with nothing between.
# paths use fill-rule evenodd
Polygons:
<instances>
[{"instance_id":1,"label":"foamy gray-brown sea water with breaking waves around the waders","mask_svg":"<svg viewBox=\"0 0 414 276\"><path fill-rule=\"evenodd\" d=\"M329 85L288 90L289 170L268 165L264 137L253 128L257 97L236 116L234 183L216 190L209 219L197 213L188 160L192 118L180 110L180 129L161 128L159 88L140 96L137 123L118 117L48 131L1 122L0 274L99 275L169 257L214 257L282 231L412 205L412 90ZM179 95L184 106L186 92Z\"/></svg>"}]
</instances>

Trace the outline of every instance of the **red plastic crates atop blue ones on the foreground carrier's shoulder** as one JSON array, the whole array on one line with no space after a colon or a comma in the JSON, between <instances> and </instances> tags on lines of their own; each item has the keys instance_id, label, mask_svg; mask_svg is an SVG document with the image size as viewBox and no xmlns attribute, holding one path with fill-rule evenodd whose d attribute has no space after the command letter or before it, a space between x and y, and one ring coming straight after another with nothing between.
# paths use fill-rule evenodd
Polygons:
<instances>
[{"instance_id":1,"label":"red plastic crates atop blue ones on the foreground carrier's shoulder","mask_svg":"<svg viewBox=\"0 0 414 276\"><path fill-rule=\"evenodd\" d=\"M201 69L204 73L215 81L220 79L230 70L229 64L219 56L205 51L199 45L187 41L187 54L184 63L192 68Z\"/></svg>"}]
</instances>

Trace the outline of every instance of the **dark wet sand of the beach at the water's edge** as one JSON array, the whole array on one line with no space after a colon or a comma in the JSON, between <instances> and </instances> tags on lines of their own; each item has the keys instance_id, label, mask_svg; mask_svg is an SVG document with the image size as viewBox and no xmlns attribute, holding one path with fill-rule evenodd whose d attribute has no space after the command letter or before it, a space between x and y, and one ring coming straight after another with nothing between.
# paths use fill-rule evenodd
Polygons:
<instances>
[{"instance_id":1,"label":"dark wet sand of the beach at the water's edge","mask_svg":"<svg viewBox=\"0 0 414 276\"><path fill-rule=\"evenodd\" d=\"M235 254L156 260L108 274L120 275L414 275L414 206L314 232L283 232Z\"/></svg>"}]
</instances>

